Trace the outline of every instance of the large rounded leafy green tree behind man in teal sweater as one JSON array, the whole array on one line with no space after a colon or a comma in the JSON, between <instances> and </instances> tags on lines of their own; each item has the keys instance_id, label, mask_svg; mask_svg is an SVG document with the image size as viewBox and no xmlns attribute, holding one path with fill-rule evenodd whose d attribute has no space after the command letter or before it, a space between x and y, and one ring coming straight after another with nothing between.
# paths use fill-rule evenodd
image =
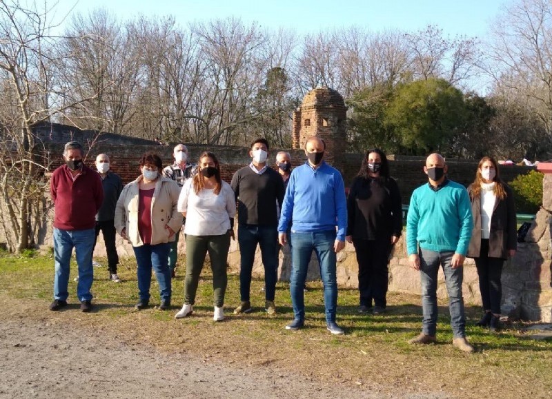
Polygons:
<instances>
[{"instance_id":1,"label":"large rounded leafy green tree behind man in teal sweater","mask_svg":"<svg viewBox=\"0 0 552 399\"><path fill-rule=\"evenodd\" d=\"M395 132L404 154L449 154L449 141L465 121L464 96L444 79L397 86L384 111L384 126Z\"/></svg>"}]
</instances>

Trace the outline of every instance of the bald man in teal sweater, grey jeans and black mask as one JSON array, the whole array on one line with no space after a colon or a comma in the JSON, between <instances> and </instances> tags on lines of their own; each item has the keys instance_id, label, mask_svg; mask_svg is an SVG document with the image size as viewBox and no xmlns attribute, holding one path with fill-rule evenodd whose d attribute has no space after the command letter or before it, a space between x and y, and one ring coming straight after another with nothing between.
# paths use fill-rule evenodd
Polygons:
<instances>
[{"instance_id":1,"label":"bald man in teal sweater, grey jeans and black mask","mask_svg":"<svg viewBox=\"0 0 552 399\"><path fill-rule=\"evenodd\" d=\"M440 154L428 156L424 166L428 184L414 190L408 207L406 249L411 267L420 270L423 311L422 334L408 342L436 342L437 272L442 266L449 293L453 345L473 352L466 341L462 298L462 265L473 226L471 203L466 188L446 178L447 169Z\"/></svg>"}]
</instances>

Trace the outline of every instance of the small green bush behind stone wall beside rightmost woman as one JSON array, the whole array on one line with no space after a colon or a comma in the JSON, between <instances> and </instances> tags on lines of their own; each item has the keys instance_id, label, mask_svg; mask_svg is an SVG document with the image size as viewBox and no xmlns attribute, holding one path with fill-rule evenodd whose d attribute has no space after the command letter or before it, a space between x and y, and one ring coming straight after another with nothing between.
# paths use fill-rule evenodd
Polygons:
<instances>
[{"instance_id":1,"label":"small green bush behind stone wall beside rightmost woman","mask_svg":"<svg viewBox=\"0 0 552 399\"><path fill-rule=\"evenodd\" d=\"M515 198L515 207L520 214L536 214L542 205L542 177L536 170L520 174L509 183Z\"/></svg>"}]
</instances>

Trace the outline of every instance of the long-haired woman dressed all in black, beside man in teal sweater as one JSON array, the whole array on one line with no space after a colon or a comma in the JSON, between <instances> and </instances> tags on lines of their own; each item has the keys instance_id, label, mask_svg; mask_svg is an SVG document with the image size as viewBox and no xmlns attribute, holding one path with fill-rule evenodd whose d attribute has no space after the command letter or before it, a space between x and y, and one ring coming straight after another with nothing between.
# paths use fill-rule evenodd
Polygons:
<instances>
[{"instance_id":1,"label":"long-haired woman dressed all in black, beside man in teal sweater","mask_svg":"<svg viewBox=\"0 0 552 399\"><path fill-rule=\"evenodd\" d=\"M399 187L389 176L382 150L368 150L347 198L346 240L355 245L358 262L359 313L386 309L388 258L402 232Z\"/></svg>"}]
</instances>

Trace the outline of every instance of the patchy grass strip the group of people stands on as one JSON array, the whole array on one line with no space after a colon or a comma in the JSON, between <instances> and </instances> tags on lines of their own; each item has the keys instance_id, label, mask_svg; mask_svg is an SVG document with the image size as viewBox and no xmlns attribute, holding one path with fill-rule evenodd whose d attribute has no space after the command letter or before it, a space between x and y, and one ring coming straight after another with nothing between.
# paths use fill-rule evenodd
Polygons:
<instances>
[{"instance_id":1,"label":"patchy grass strip the group of people stands on","mask_svg":"<svg viewBox=\"0 0 552 399\"><path fill-rule=\"evenodd\" d=\"M104 259L98 259L105 265ZM72 265L72 271L76 265ZM199 283L195 314L175 320L183 300L183 273L173 281L172 311L135 311L137 281L132 259L119 265L123 283L108 280L106 267L95 268L95 311L82 314L75 298L77 283L70 278L70 306L53 316L46 309L52 300L53 260L51 256L14 258L0 256L0 295L10 300L34 301L37 309L26 317L48 323L71 323L86 331L115 334L129 343L141 342L162 351L186 352L191 356L240 365L297 371L313 379L357 385L367 391L391 393L441 393L450 397L549 398L552 391L552 342L524 336L522 323L513 323L500 334L473 327L480 316L478 307L466 306L472 355L451 345L446 303L440 303L437 345L413 347L406 341L421 328L420 298L388 295L388 312L382 316L357 314L357 291L340 289L337 321L344 336L332 336L325 329L324 303L320 283L308 283L306 328L284 329L293 318L288 285L278 283L278 314L264 312L263 282L253 280L253 313L234 316L239 305L239 278L229 276L226 319L213 323L212 280L204 271ZM75 272L73 272L75 273ZM159 303L157 285L152 283L150 303ZM59 319L61 318L61 319ZM60 321L61 320L61 321Z\"/></svg>"}]
</instances>

